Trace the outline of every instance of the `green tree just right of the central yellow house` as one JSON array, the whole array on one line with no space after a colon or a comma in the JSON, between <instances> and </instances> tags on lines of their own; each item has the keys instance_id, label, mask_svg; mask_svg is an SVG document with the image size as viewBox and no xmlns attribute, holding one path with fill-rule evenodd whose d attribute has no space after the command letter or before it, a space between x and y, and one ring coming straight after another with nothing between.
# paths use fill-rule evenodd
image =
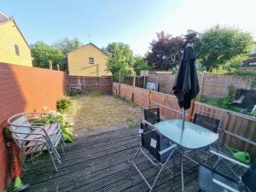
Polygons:
<instances>
[{"instance_id":1,"label":"green tree just right of the central yellow house","mask_svg":"<svg viewBox=\"0 0 256 192\"><path fill-rule=\"evenodd\" d=\"M119 81L119 77L122 80L125 75L132 73L133 55L128 44L111 43L104 51L109 55L107 71L112 73L113 81Z\"/></svg>"}]
</instances>

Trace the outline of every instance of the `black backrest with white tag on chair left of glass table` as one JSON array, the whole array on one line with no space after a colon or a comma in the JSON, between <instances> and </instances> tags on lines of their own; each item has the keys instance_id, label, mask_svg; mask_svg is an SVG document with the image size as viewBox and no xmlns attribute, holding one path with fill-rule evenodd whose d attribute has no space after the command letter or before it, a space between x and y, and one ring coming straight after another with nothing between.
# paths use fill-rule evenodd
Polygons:
<instances>
[{"instance_id":1,"label":"black backrest with white tag on chair left of glass table","mask_svg":"<svg viewBox=\"0 0 256 192\"><path fill-rule=\"evenodd\" d=\"M155 130L154 125L143 121L141 123L142 134L142 146L146 148L150 154L154 156L159 162L165 162L168 157L168 153L160 155L160 151L171 146L169 140L166 137L160 135ZM170 152L171 153L171 152Z\"/></svg>"}]
</instances>

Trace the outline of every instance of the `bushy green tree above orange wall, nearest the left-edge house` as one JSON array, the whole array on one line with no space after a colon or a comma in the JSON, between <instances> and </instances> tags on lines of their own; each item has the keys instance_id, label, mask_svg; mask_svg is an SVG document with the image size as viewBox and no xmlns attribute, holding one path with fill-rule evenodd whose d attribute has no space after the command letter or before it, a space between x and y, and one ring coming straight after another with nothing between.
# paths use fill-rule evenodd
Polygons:
<instances>
[{"instance_id":1,"label":"bushy green tree above orange wall, nearest the left-edge house","mask_svg":"<svg viewBox=\"0 0 256 192\"><path fill-rule=\"evenodd\" d=\"M60 64L63 54L61 49L54 48L40 41L32 44L32 64L34 67L49 68L49 60L53 61L53 67Z\"/></svg>"}]
</instances>

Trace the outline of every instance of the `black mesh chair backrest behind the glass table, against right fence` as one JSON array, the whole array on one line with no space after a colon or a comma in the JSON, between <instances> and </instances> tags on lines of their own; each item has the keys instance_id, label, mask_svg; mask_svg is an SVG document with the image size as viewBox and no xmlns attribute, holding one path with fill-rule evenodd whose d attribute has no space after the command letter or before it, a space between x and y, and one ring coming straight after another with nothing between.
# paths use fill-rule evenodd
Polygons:
<instances>
[{"instance_id":1,"label":"black mesh chair backrest behind the glass table, against right fence","mask_svg":"<svg viewBox=\"0 0 256 192\"><path fill-rule=\"evenodd\" d=\"M214 113L207 113L207 112L203 112L203 113L204 114L196 112L194 119L193 119L193 123L195 123L196 125L201 125L201 126L207 128L208 130L217 133L218 125L220 122L219 116ZM212 118L212 117L210 117L211 114L218 116L218 117Z\"/></svg>"}]
</instances>

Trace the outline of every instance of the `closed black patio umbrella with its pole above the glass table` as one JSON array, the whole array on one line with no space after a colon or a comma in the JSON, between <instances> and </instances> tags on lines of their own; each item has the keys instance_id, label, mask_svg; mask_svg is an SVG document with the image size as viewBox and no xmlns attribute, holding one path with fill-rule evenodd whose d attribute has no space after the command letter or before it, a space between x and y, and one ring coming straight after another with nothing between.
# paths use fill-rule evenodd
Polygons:
<instances>
[{"instance_id":1,"label":"closed black patio umbrella with its pole above the glass table","mask_svg":"<svg viewBox=\"0 0 256 192\"><path fill-rule=\"evenodd\" d=\"M177 71L172 90L177 96L177 102L180 108L183 108L183 128L185 113L190 108L190 102L199 93L199 83L195 70L195 54L193 48L188 44L182 56L180 67Z\"/></svg>"}]
</instances>

